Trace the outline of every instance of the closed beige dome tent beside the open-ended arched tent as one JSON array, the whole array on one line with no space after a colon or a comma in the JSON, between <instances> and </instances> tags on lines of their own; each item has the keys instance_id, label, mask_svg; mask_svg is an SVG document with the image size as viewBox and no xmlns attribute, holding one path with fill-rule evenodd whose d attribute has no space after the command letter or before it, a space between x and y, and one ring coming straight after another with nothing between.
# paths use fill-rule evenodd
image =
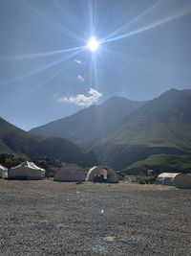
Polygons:
<instances>
[{"instance_id":1,"label":"closed beige dome tent beside the open-ended arched tent","mask_svg":"<svg viewBox=\"0 0 191 256\"><path fill-rule=\"evenodd\" d=\"M63 164L58 168L53 180L81 182L85 180L84 170L75 164Z\"/></svg>"}]
</instances>

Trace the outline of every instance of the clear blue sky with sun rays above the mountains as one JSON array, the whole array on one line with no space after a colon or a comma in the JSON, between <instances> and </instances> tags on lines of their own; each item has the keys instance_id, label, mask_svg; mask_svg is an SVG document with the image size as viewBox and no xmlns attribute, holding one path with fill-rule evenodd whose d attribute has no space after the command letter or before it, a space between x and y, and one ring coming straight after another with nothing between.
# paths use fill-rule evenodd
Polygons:
<instances>
[{"instance_id":1,"label":"clear blue sky with sun rays above the mountains","mask_svg":"<svg viewBox=\"0 0 191 256\"><path fill-rule=\"evenodd\" d=\"M190 0L1 0L0 33L0 116L20 128L191 88Z\"/></svg>"}]
</instances>

